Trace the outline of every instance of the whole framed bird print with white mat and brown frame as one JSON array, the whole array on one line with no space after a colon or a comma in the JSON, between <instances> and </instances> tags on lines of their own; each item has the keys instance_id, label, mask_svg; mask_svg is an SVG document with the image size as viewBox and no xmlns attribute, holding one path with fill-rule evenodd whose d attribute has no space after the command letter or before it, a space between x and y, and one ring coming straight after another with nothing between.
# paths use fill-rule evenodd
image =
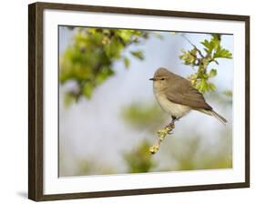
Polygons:
<instances>
[{"instance_id":1,"label":"whole framed bird print with white mat and brown frame","mask_svg":"<svg viewBox=\"0 0 256 204\"><path fill-rule=\"evenodd\" d=\"M36 201L250 186L250 17L29 5Z\"/></svg>"}]
</instances>

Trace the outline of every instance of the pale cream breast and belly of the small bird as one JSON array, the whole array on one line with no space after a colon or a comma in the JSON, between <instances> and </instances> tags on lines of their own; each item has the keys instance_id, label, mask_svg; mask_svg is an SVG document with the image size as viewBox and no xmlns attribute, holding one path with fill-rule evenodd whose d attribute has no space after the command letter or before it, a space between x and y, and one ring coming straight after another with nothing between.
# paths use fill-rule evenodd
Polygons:
<instances>
[{"instance_id":1,"label":"pale cream breast and belly of the small bird","mask_svg":"<svg viewBox=\"0 0 256 204\"><path fill-rule=\"evenodd\" d=\"M189 113L190 107L179 105L169 101L163 93L156 93L155 96L159 102L160 107L170 116L183 117Z\"/></svg>"}]
</instances>

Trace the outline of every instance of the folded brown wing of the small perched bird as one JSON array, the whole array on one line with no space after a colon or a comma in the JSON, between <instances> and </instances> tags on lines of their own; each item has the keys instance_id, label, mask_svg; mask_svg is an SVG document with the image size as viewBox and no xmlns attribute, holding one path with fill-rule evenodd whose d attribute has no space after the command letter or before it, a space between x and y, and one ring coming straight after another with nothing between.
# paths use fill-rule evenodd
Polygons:
<instances>
[{"instance_id":1,"label":"folded brown wing of the small perched bird","mask_svg":"<svg viewBox=\"0 0 256 204\"><path fill-rule=\"evenodd\" d=\"M176 81L177 83L166 89L166 96L171 102L195 109L212 109L206 103L203 95L196 88L192 87L187 79L180 77Z\"/></svg>"}]
</instances>

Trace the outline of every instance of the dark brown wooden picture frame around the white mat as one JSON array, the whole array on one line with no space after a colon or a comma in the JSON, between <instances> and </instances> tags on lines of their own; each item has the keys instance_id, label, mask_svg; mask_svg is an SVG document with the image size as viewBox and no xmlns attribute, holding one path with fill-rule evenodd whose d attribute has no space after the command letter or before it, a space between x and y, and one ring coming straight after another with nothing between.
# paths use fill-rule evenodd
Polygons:
<instances>
[{"instance_id":1,"label":"dark brown wooden picture frame around the white mat","mask_svg":"<svg viewBox=\"0 0 256 204\"><path fill-rule=\"evenodd\" d=\"M89 11L127 15L177 16L241 21L245 23L245 182L169 187L154 189L119 189L111 191L80 192L44 195L43 140L44 140L44 90L43 90L43 12L45 9ZM219 15L166 10L148 10L94 5L66 5L35 3L28 6L28 198L36 201L54 199L83 199L97 197L127 196L153 193L169 193L206 189L235 189L250 187L250 16Z\"/></svg>"}]
</instances>

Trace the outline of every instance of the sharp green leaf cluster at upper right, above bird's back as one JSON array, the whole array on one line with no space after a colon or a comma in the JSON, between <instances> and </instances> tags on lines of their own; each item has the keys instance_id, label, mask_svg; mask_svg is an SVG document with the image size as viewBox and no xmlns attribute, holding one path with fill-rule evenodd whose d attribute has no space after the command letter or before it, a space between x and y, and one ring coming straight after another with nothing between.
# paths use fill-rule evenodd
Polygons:
<instances>
[{"instance_id":1,"label":"sharp green leaf cluster at upper right, above bird's back","mask_svg":"<svg viewBox=\"0 0 256 204\"><path fill-rule=\"evenodd\" d=\"M189 41L189 40L188 40ZM232 54L229 50L223 48L220 45L221 37L219 34L212 34L210 40L205 39L201 42L203 51L191 44L193 48L191 50L182 49L182 55L179 58L187 66L197 66L197 72L190 75L189 81L192 86L197 88L201 93L208 91L214 91L216 89L215 85L210 82L210 78L217 75L217 69L211 68L208 70L210 63L215 63L219 65L217 61L218 58L232 58Z\"/></svg>"}]
</instances>

